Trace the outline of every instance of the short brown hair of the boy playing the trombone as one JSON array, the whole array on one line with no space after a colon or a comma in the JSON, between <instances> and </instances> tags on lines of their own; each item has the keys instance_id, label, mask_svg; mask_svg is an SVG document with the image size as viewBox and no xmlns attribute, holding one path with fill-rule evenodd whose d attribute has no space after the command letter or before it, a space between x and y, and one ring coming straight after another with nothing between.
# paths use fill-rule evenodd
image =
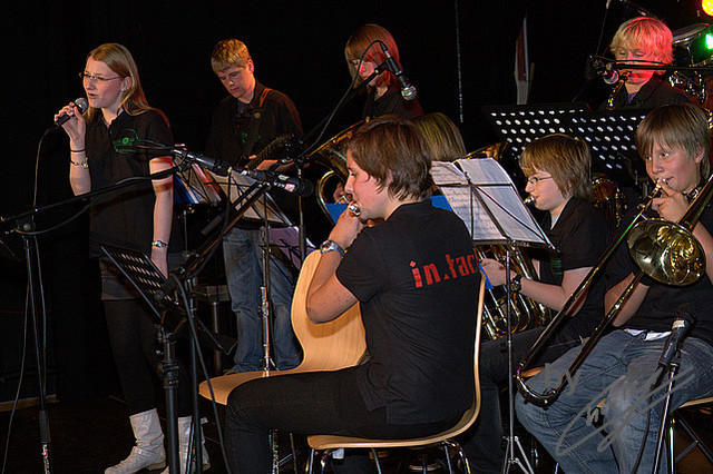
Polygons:
<instances>
[{"instance_id":1,"label":"short brown hair of the boy playing the trombone","mask_svg":"<svg viewBox=\"0 0 713 474\"><path fill-rule=\"evenodd\" d=\"M681 147L690 158L695 158L703 150L701 178L707 179L711 175L711 128L709 115L702 108L677 103L657 107L648 112L636 129L638 155L646 159L654 144L666 148Z\"/></svg>"}]
</instances>

